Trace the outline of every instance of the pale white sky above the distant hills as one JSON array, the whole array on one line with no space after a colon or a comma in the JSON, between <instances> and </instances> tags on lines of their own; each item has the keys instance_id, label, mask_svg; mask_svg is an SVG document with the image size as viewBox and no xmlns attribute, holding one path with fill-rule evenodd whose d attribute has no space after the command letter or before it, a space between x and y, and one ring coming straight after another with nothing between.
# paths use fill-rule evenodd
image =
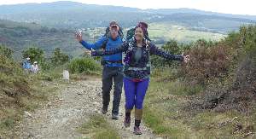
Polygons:
<instances>
[{"instance_id":1,"label":"pale white sky above the distant hills","mask_svg":"<svg viewBox=\"0 0 256 139\"><path fill-rule=\"evenodd\" d=\"M2 4L49 3L58 0L0 0ZM60 0L59 0L60 1ZM63 0L62 0L63 1ZM201 9L224 14L256 15L256 0L69 0L79 3L115 5L139 9Z\"/></svg>"}]
</instances>

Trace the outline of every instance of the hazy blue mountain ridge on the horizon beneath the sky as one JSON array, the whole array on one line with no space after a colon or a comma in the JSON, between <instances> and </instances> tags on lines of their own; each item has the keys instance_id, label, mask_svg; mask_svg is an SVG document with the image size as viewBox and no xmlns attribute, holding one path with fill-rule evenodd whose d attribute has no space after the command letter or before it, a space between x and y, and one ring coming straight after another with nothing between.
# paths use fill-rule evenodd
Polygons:
<instances>
[{"instance_id":1,"label":"hazy blue mountain ridge on the horizon beneath the sky","mask_svg":"<svg viewBox=\"0 0 256 139\"><path fill-rule=\"evenodd\" d=\"M141 20L148 23L168 21L196 31L224 34L237 30L242 24L256 22L256 16L218 14L197 9L143 10L67 1L2 5L0 18L69 29L104 27L110 20L118 20L123 27L135 26Z\"/></svg>"}]
</instances>

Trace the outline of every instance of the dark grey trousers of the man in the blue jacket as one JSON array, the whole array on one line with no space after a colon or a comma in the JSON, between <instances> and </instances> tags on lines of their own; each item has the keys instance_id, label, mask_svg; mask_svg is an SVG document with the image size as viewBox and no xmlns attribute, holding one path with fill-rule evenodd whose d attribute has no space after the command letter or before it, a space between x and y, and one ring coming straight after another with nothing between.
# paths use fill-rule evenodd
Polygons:
<instances>
[{"instance_id":1,"label":"dark grey trousers of the man in the blue jacket","mask_svg":"<svg viewBox=\"0 0 256 139\"><path fill-rule=\"evenodd\" d=\"M113 85L113 109L112 113L119 113L119 103L123 88L123 67L103 67L102 71L102 103L108 107L110 101L110 90Z\"/></svg>"}]
</instances>

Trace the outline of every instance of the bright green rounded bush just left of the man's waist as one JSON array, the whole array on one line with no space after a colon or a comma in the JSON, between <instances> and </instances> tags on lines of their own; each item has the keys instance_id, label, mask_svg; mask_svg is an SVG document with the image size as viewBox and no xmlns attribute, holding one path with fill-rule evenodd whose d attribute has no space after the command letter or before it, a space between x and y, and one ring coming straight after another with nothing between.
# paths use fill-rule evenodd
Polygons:
<instances>
[{"instance_id":1,"label":"bright green rounded bush just left of the man's waist","mask_svg":"<svg viewBox=\"0 0 256 139\"><path fill-rule=\"evenodd\" d=\"M100 64L90 58L78 58L70 61L68 68L71 73L91 73L101 69Z\"/></svg>"}]
</instances>

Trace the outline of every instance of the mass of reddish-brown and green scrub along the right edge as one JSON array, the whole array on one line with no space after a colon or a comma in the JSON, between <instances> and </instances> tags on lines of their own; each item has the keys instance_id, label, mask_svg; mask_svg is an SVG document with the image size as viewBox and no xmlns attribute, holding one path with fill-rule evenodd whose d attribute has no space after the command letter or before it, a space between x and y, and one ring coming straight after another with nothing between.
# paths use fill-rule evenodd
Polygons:
<instances>
[{"instance_id":1,"label":"mass of reddish-brown and green scrub along the right edge","mask_svg":"<svg viewBox=\"0 0 256 139\"><path fill-rule=\"evenodd\" d=\"M187 70L186 77L198 82L207 83L210 78L216 80L213 84L210 82L204 94L198 101L194 99L190 106L218 112L232 109L241 113L253 112L256 105L256 26L241 26L240 32L230 33L208 49L212 55L207 54L204 47L192 49L192 61L183 67ZM212 61L214 59L217 64ZM207 61L211 63L208 66ZM198 63L200 65L196 65ZM199 66L202 67L193 70Z\"/></svg>"}]
</instances>

